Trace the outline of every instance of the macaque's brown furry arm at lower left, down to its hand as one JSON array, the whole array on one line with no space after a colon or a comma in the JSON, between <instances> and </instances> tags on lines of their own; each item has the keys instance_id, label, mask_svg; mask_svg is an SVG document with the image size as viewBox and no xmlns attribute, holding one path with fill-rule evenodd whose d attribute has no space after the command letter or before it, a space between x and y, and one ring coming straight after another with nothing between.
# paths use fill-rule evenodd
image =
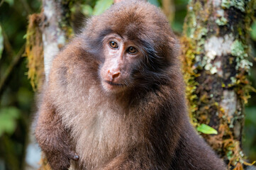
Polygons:
<instances>
[{"instance_id":1,"label":"macaque's brown furry arm at lower left, down to its hand","mask_svg":"<svg viewBox=\"0 0 256 170\"><path fill-rule=\"evenodd\" d=\"M48 101L43 101L40 106L35 137L54 170L67 170L70 159L79 159L69 147L69 132L63 127L60 116Z\"/></svg>"}]
</instances>

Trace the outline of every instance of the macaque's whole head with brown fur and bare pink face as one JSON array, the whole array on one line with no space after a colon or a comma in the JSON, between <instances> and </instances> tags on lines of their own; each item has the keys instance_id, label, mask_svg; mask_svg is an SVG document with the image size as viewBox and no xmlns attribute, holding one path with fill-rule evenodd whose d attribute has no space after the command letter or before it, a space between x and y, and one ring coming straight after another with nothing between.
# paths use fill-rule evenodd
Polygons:
<instances>
[{"instance_id":1,"label":"macaque's whole head with brown fur and bare pink face","mask_svg":"<svg viewBox=\"0 0 256 170\"><path fill-rule=\"evenodd\" d=\"M151 88L167 81L177 40L165 15L145 1L124 0L87 22L87 51L99 61L106 92Z\"/></svg>"}]
</instances>

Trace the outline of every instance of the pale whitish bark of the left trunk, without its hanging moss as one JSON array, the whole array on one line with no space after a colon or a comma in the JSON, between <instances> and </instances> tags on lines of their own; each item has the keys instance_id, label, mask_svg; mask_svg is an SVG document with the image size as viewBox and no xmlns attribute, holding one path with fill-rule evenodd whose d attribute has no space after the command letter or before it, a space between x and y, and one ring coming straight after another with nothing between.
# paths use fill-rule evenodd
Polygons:
<instances>
[{"instance_id":1,"label":"pale whitish bark of the left trunk, without its hanging moss","mask_svg":"<svg viewBox=\"0 0 256 170\"><path fill-rule=\"evenodd\" d=\"M70 1L43 0L45 21L42 25L42 38L46 81L48 81L52 60L60 48L65 45L70 34L69 4Z\"/></svg>"}]
</instances>

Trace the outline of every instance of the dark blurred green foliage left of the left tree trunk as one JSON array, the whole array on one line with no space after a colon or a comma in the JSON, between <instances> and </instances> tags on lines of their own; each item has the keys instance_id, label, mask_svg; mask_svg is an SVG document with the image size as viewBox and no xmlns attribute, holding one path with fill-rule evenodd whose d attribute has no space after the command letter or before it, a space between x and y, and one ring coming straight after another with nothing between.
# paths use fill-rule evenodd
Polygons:
<instances>
[{"instance_id":1,"label":"dark blurred green foliage left of the left tree trunk","mask_svg":"<svg viewBox=\"0 0 256 170\"><path fill-rule=\"evenodd\" d=\"M28 15L40 12L40 1L4 0L0 4L0 54L4 43L0 55L0 169L20 170L25 166L34 93L26 75L26 58L19 57L15 67L10 66L18 52L22 54ZM11 74L6 77L8 69Z\"/></svg>"}]
</instances>

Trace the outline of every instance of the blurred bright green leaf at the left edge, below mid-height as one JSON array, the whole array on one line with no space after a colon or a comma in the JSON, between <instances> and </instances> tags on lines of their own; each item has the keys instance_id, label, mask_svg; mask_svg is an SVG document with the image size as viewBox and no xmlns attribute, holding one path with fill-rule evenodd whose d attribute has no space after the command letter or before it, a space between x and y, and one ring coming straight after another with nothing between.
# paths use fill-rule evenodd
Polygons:
<instances>
[{"instance_id":1,"label":"blurred bright green leaf at the left edge, below mid-height","mask_svg":"<svg viewBox=\"0 0 256 170\"><path fill-rule=\"evenodd\" d=\"M0 109L0 137L4 132L12 134L16 129L16 120L19 118L20 111L17 108Z\"/></svg>"}]
</instances>

